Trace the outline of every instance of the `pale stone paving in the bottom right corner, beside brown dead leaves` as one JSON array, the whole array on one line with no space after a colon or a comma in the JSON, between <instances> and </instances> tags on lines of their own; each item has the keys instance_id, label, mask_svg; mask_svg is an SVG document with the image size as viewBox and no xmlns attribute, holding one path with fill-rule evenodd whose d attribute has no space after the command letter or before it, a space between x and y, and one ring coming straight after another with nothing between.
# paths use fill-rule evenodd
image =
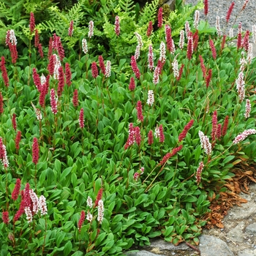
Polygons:
<instances>
[{"instance_id":1,"label":"pale stone paving in the bottom right corner, beside brown dead leaves","mask_svg":"<svg viewBox=\"0 0 256 256\"><path fill-rule=\"evenodd\" d=\"M173 246L163 240L152 241L129 256L254 256L256 255L256 184L249 186L249 194L241 193L247 200L241 207L233 206L223 219L224 228L203 230L200 244L192 249L187 244Z\"/></svg>"}]
</instances>

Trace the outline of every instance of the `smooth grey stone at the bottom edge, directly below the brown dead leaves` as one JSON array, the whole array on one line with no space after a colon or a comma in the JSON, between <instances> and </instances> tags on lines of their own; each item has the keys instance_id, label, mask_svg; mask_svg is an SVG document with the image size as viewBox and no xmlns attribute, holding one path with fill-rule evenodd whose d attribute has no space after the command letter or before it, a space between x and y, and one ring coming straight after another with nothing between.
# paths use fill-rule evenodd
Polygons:
<instances>
[{"instance_id":1,"label":"smooth grey stone at the bottom edge, directly below the brown dead leaves","mask_svg":"<svg viewBox=\"0 0 256 256\"><path fill-rule=\"evenodd\" d=\"M201 235L199 241L201 256L234 256L225 241L222 241L219 238Z\"/></svg>"}]
</instances>

